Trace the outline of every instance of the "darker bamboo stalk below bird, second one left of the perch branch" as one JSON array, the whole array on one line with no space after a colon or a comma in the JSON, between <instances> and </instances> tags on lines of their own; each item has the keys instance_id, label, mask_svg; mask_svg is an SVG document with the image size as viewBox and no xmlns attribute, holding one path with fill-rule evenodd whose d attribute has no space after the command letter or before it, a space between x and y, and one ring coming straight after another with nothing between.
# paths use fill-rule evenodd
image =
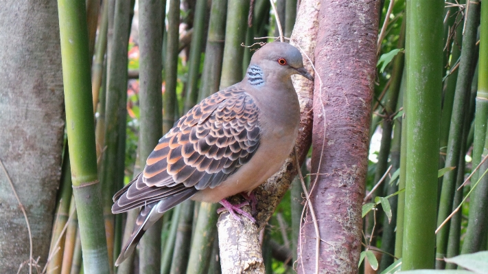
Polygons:
<instances>
[{"instance_id":1,"label":"darker bamboo stalk below bird, second one left of the perch branch","mask_svg":"<svg viewBox=\"0 0 488 274\"><path fill-rule=\"evenodd\" d=\"M193 220L193 209L195 202L187 200L181 203L181 216L178 219L178 229L174 241L173 259L171 274L186 273L189 258L189 247L191 242L191 222Z\"/></svg>"}]
</instances>

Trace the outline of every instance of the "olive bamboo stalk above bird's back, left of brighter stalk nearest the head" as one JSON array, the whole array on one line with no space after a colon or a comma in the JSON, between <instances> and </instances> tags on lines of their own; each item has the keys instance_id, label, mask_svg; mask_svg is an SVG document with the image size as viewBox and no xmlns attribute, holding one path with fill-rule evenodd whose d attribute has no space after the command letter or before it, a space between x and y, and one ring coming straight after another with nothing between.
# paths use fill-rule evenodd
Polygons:
<instances>
[{"instance_id":1,"label":"olive bamboo stalk above bird's back, left of brighter stalk nearest the head","mask_svg":"<svg viewBox=\"0 0 488 274\"><path fill-rule=\"evenodd\" d=\"M218 91L220 73L222 72L222 58L224 56L225 19L227 14L226 0L213 0L210 10L209 34L205 47L205 61L203 62L202 82L198 101Z\"/></svg>"}]
</instances>

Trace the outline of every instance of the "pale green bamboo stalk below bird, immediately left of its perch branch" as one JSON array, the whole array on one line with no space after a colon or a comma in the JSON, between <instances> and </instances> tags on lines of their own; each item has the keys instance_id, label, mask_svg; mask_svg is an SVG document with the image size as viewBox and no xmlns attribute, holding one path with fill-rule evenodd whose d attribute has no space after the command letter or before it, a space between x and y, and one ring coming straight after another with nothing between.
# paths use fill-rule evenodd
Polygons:
<instances>
[{"instance_id":1,"label":"pale green bamboo stalk below bird, immediately left of its perch branch","mask_svg":"<svg viewBox=\"0 0 488 274\"><path fill-rule=\"evenodd\" d=\"M217 232L217 203L201 203L191 242L187 274L205 274L209 269L213 240Z\"/></svg>"}]
</instances>

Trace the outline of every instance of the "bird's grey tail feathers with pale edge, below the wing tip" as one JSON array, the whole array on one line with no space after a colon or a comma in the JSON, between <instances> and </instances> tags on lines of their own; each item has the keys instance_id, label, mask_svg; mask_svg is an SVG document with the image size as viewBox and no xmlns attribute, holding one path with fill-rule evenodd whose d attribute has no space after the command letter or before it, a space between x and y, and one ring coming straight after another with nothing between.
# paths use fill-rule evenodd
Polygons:
<instances>
[{"instance_id":1,"label":"bird's grey tail feathers with pale edge, below the wing tip","mask_svg":"<svg viewBox=\"0 0 488 274\"><path fill-rule=\"evenodd\" d=\"M134 252L139 240L141 240L146 230L154 225L154 222L159 220L159 218L161 218L168 210L172 209L179 203L186 201L191 196L194 196L196 192L198 192L198 190L191 187L183 192L164 198L161 201L153 202L141 207L141 211L139 212L139 216L137 216L134 229L132 229L130 238L124 245L124 248L121 249L119 258L117 258L117 261L115 261L115 266L119 266L122 262L124 262L124 260L129 258L130 254Z\"/></svg>"}]
</instances>

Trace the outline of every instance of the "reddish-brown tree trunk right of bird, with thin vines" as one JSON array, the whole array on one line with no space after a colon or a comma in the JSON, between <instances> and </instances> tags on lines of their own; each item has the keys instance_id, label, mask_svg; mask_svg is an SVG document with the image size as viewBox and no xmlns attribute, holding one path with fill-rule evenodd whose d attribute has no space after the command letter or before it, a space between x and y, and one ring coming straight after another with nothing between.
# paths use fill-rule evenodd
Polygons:
<instances>
[{"instance_id":1,"label":"reddish-brown tree trunk right of bird, with thin vines","mask_svg":"<svg viewBox=\"0 0 488 274\"><path fill-rule=\"evenodd\" d=\"M316 175L310 185L321 241L316 258L309 208L301 231L299 273L358 269L379 3L321 1L312 134Z\"/></svg>"}]
</instances>

